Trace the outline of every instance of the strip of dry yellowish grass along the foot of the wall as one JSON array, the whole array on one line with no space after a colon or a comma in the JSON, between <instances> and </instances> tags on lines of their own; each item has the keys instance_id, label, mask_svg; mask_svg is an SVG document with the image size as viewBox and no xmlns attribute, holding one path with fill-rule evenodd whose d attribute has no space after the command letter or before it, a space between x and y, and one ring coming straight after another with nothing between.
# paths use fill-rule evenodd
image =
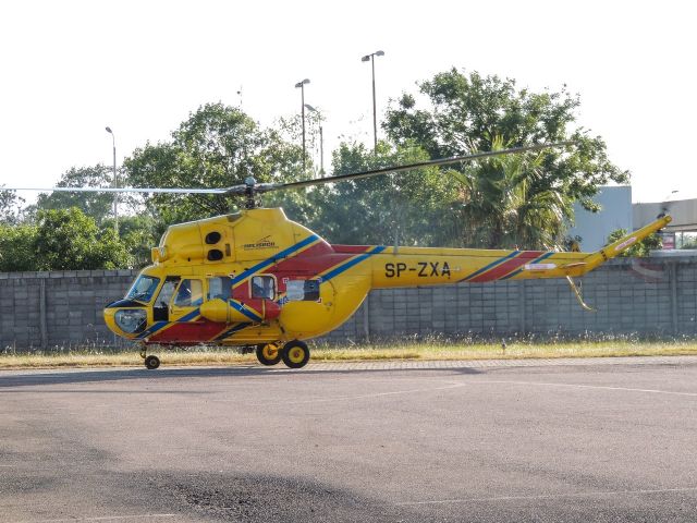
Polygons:
<instances>
[{"instance_id":1,"label":"strip of dry yellowish grass along the foot of the wall","mask_svg":"<svg viewBox=\"0 0 697 523\"><path fill-rule=\"evenodd\" d=\"M313 346L311 362L356 361L455 361L494 358L613 357L697 354L697 341L546 341L472 343L448 340L383 342L340 348L328 344ZM154 350L166 365L249 365L254 354L241 354L236 349L193 348L188 350ZM140 366L137 351L109 348L27 351L0 354L0 368L110 367Z\"/></svg>"}]
</instances>

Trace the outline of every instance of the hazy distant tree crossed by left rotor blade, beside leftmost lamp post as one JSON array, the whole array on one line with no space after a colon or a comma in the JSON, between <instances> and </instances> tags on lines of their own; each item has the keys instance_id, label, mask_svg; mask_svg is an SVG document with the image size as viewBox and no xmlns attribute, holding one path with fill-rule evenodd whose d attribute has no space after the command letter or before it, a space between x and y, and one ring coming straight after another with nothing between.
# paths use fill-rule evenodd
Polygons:
<instances>
[{"instance_id":1,"label":"hazy distant tree crossed by left rotor blade, beside leftmost lamp post","mask_svg":"<svg viewBox=\"0 0 697 523\"><path fill-rule=\"evenodd\" d=\"M71 168L65 171L57 186L59 187L109 187L113 181L110 167L97 165L93 167ZM69 209L77 207L86 216L101 223L113 210L113 194L109 193L64 193L53 192L39 194L36 200L37 210ZM123 200L123 196L119 196Z\"/></svg>"}]
</instances>

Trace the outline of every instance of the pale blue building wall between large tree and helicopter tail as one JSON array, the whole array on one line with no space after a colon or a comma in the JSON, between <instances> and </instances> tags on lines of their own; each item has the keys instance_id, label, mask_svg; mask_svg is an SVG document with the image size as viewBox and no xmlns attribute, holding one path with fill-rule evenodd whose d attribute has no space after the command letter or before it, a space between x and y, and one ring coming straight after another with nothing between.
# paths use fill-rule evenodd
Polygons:
<instances>
[{"instance_id":1,"label":"pale blue building wall between large tree and helicopter tail","mask_svg":"<svg viewBox=\"0 0 697 523\"><path fill-rule=\"evenodd\" d=\"M580 236L582 251L598 251L608 242L612 231L634 227L632 214L632 186L603 186L592 198L600 205L598 212L584 209L578 202L574 204L575 223L568 235Z\"/></svg>"}]
</instances>

